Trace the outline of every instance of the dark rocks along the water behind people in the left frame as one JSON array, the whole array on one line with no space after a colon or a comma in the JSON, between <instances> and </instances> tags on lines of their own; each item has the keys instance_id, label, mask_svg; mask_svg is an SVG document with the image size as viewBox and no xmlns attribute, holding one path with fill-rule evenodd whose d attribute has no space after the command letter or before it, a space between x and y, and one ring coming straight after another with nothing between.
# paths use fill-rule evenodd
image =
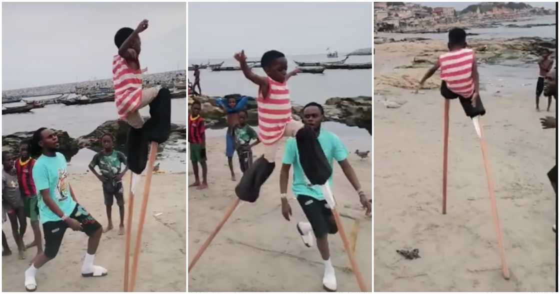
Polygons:
<instances>
[{"instance_id":1,"label":"dark rocks along the water behind people in the left frame","mask_svg":"<svg viewBox=\"0 0 560 294\"><path fill-rule=\"evenodd\" d=\"M148 118L144 118L148 119ZM108 133L115 138L115 149L124 150L127 142L127 134L130 126L122 120L108 120L97 127L93 132L78 138L72 138L63 130L54 130L58 136L60 147L58 152L62 153L67 161L76 155L81 148L88 148L93 151L101 151L99 138L102 134ZM31 132L17 132L7 136L2 136L2 151L10 154L17 154L21 141L29 140L33 136ZM186 151L182 142L186 141L186 126L181 124L171 124L169 139L160 144L159 151L169 147L169 149L184 152ZM178 144L181 143L181 144ZM183 147L179 147L183 146Z\"/></svg>"}]
</instances>

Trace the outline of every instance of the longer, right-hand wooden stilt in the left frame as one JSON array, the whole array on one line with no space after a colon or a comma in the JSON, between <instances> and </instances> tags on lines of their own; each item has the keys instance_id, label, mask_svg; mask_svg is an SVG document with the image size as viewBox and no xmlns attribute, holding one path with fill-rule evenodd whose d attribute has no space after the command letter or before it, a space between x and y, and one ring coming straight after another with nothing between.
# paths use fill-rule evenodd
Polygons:
<instances>
[{"instance_id":1,"label":"longer, right-hand wooden stilt in the left frame","mask_svg":"<svg viewBox=\"0 0 560 294\"><path fill-rule=\"evenodd\" d=\"M134 256L132 260L132 277L130 277L130 292L134 291L136 284L136 274L138 271L138 257L140 255L140 248L142 247L142 230L144 227L144 220L146 219L146 209L148 207L148 197L150 196L150 185L152 183L153 164L156 161L157 143L150 144L150 157L148 157L148 170L146 171L146 183L144 183L144 193L142 197L142 207L140 209L140 218L138 222L138 232L136 233L136 244L134 245Z\"/></svg>"}]
</instances>

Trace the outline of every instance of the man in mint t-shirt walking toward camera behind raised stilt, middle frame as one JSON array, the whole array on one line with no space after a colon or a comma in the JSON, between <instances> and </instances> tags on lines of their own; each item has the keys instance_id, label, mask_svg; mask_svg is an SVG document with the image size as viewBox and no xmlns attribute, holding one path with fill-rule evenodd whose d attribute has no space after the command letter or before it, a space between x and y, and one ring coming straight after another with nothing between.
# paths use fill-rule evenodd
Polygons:
<instances>
[{"instance_id":1,"label":"man in mint t-shirt walking toward camera behind raised stilt, middle frame","mask_svg":"<svg viewBox=\"0 0 560 294\"><path fill-rule=\"evenodd\" d=\"M321 129L321 120L323 120L323 106L318 103L311 102L302 110L302 119L304 123L312 127L318 133L319 144L325 153L326 159L333 165L333 161L338 161L344 175L348 181L356 189L360 198L360 203L366 208L366 214L371 213L370 200L366 199L360 182L356 177L356 173L349 164L347 157L348 151L340 139L328 130ZM297 151L297 142L294 138L288 138L286 141L286 151L282 160L282 170L280 172L280 193L282 201L282 214L286 220L290 221L292 208L286 198L288 190L288 177L290 176L290 167L293 166L293 183L292 192L296 196L305 216L309 222L298 222L296 227L300 233L304 244L307 247L312 246L313 237L311 232L315 234L317 240L317 248L325 263L325 272L323 276L323 287L328 291L337 290L337 280L334 274L334 267L330 262L328 234L336 234L338 232L337 225L334 221L330 207L326 203L325 197L320 185L311 185L306 179L304 171L300 165L299 153ZM332 186L333 178L328 181Z\"/></svg>"}]
</instances>

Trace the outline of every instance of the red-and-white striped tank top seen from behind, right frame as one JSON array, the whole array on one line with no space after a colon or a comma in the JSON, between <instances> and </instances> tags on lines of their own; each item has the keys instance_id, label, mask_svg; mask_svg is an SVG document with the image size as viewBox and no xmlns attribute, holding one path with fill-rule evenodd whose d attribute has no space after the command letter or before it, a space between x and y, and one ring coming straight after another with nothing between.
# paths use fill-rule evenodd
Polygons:
<instances>
[{"instance_id":1,"label":"red-and-white striped tank top seen from behind, right frame","mask_svg":"<svg viewBox=\"0 0 560 294\"><path fill-rule=\"evenodd\" d=\"M473 96L473 49L461 49L440 56L441 80L452 92L465 98Z\"/></svg>"}]
</instances>

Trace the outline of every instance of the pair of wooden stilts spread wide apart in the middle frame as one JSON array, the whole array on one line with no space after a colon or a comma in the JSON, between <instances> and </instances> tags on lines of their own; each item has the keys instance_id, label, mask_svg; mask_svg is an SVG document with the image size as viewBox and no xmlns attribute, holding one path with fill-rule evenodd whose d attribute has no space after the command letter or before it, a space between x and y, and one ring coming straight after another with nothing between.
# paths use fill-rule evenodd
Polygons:
<instances>
[{"instance_id":1,"label":"pair of wooden stilts spread wide apart in the middle frame","mask_svg":"<svg viewBox=\"0 0 560 294\"><path fill-rule=\"evenodd\" d=\"M344 250L348 254L348 259L349 259L349 262L350 262L350 267L352 269L352 272L356 276L356 280L358 282L358 286L360 287L360 291L367 292L366 283L363 280L362 273L360 272L360 269L358 269L358 263L356 262L356 256L354 256L354 251L352 250L352 248L350 246L350 242L348 242L348 238L346 237L346 232L344 231L344 225L342 223L342 220L340 220L340 214L338 213L337 208L334 206L334 196L333 196L332 192L330 191L329 184L326 183L324 185L324 188L327 192L327 193L325 193L326 194L325 198L327 199L327 202L329 203L329 206L331 207L330 210L333 212L334 221L337 223L338 233L340 234L340 238L342 239L342 243L344 245ZM202 244L202 247L200 247L197 254L194 255L193 260L189 264L189 273L190 273L190 270L193 269L194 265L198 262L198 259L200 258L200 256L202 256L202 254L204 253L204 250L206 250L206 248L208 248L208 245L210 245L210 242L212 242L212 239L214 239L214 237L216 237L216 235L218 234L220 229L226 223L227 219L230 218L231 214L235 211L235 208L239 205L239 202L240 202L240 199L236 198L234 200L234 202L232 202L231 205L227 208L226 214L223 216L220 223L218 223L218 226L214 229L214 231L212 231L212 234L210 234L210 236L208 237L208 239L206 239L204 244ZM353 247L355 247L355 244L353 244Z\"/></svg>"}]
</instances>

